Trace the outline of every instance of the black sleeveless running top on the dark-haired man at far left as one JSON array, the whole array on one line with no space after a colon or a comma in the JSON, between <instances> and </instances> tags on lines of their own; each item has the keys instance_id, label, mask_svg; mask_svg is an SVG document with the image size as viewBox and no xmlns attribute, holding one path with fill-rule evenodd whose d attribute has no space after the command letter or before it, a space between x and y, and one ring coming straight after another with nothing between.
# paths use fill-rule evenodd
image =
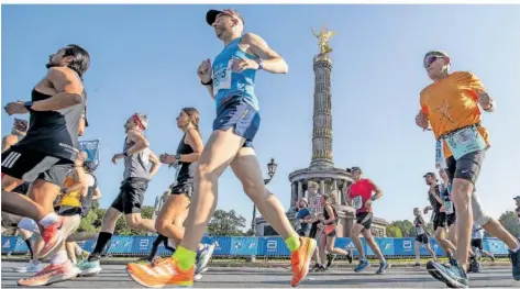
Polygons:
<instances>
[{"instance_id":1,"label":"black sleeveless running top on the dark-haired man at far left","mask_svg":"<svg viewBox=\"0 0 520 289\"><path fill-rule=\"evenodd\" d=\"M32 101L49 99L36 89L31 93ZM87 92L81 93L82 102L58 111L30 111L29 130L15 146L25 146L49 156L76 160L79 153L79 119L85 111Z\"/></svg>"}]
</instances>

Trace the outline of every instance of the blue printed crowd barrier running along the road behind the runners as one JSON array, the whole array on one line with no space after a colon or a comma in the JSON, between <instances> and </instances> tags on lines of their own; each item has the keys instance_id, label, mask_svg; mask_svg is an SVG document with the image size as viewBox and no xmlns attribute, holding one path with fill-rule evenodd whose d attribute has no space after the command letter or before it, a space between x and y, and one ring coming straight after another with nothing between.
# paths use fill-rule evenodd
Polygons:
<instances>
[{"instance_id":1,"label":"blue printed crowd barrier running along the road behind the runners","mask_svg":"<svg viewBox=\"0 0 520 289\"><path fill-rule=\"evenodd\" d=\"M155 236L113 236L108 251L106 252L112 256L145 256L152 249L152 243ZM416 240L413 237L376 237L377 244L379 245L383 254L386 257L403 258L414 256ZM374 252L366 245L365 240L362 238L363 247L367 256L374 256ZM215 257L265 257L265 258L285 258L289 257L289 249L287 248L284 240L279 236L272 237L208 237L204 236L202 240L204 244L215 244L215 251L213 256ZM95 241L87 241L79 243L81 247L87 251L92 251ZM432 249L438 256L443 256L439 243L431 238L430 241ZM340 248L353 249L354 256L357 256L357 251L354 247L354 243L350 237L336 238L335 246ZM488 237L484 240L484 249L495 254L496 256L506 256L508 254L507 246L499 240ZM2 254L25 254L27 247L25 242L19 236L2 236ZM163 244L159 245L159 255L168 255ZM429 253L421 247L421 255L428 256Z\"/></svg>"}]
</instances>

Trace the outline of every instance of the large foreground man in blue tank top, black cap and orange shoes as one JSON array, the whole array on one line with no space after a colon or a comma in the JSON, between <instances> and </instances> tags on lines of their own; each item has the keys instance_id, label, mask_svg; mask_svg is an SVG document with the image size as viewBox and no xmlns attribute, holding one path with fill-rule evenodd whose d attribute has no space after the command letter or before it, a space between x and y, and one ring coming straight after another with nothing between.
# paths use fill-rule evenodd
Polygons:
<instances>
[{"instance_id":1,"label":"large foreground man in blue tank top, black cap and orange shoes","mask_svg":"<svg viewBox=\"0 0 520 289\"><path fill-rule=\"evenodd\" d=\"M246 194L286 241L291 252L291 285L298 286L309 271L316 241L300 237L295 232L278 199L265 188L262 169L252 147L259 126L258 99L254 93L256 70L286 74L287 63L258 35L242 35L244 18L236 11L210 10L206 20L213 26L224 48L213 64L207 59L198 68L202 85L215 101L217 119L195 171L187 231L167 263L150 271L129 268L129 274L147 287L192 285L197 248L217 207L218 179L231 165Z\"/></svg>"}]
</instances>

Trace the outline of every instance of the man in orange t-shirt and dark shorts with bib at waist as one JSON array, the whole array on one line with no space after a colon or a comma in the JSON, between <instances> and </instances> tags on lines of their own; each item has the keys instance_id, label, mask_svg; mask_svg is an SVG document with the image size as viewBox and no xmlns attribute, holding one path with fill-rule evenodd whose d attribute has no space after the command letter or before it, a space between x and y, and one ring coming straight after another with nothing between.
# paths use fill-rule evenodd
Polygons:
<instances>
[{"instance_id":1,"label":"man in orange t-shirt and dark shorts with bib at waist","mask_svg":"<svg viewBox=\"0 0 520 289\"><path fill-rule=\"evenodd\" d=\"M466 265L474 221L472 215L475 214L471 198L474 194L485 152L489 147L488 132L480 124L479 107L484 111L491 112L496 104L474 74L467 71L450 74L450 60L449 55L443 52L433 51L425 54L424 68L433 84L421 91L421 110L416 116L416 123L423 130L431 124L438 140L435 163L441 164L443 158L445 159L457 213L456 247L460 248L457 262L452 266L430 262L427 268L440 275L447 286L465 288L469 285ZM494 229L491 234L500 233L506 237L513 264L512 275L516 280L520 280L519 242L510 234L509 236L505 234L500 225L497 226L493 222L489 226Z\"/></svg>"}]
</instances>

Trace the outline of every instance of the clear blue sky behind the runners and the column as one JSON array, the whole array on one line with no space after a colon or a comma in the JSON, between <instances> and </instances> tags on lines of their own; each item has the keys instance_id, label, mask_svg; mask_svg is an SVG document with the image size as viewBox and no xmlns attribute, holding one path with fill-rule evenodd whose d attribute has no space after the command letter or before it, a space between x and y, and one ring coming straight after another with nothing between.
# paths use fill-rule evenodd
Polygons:
<instances>
[{"instance_id":1,"label":"clear blue sky behind the runners and the column","mask_svg":"<svg viewBox=\"0 0 520 289\"><path fill-rule=\"evenodd\" d=\"M182 107L201 113L204 141L211 133L214 103L196 69L222 44L206 24L210 8L229 5L2 5L2 105L29 99L45 74L51 53L69 43L87 48L85 75L91 126L84 140L101 137L98 169L108 207L118 193L123 165L110 159L123 146L123 124L133 112L150 116L147 136L157 154L175 152L181 133L174 119ZM269 184L287 208L288 174L308 167L311 157L313 71L318 53L310 27L322 23L338 32L332 110L336 167L359 165L385 196L375 214L412 219L428 204L422 175L434 169L434 138L414 124L419 92L429 84L422 56L444 49L454 70L471 70L497 100L484 118L489 151L478 181L491 215L513 208L520 194L520 7L519 5L233 5L246 31L263 36L289 64L288 75L259 73L256 92L262 126L255 147L262 164L278 170ZM12 119L2 110L2 134ZM163 167L145 203L172 182ZM252 202L231 170L219 181L219 208L235 209L250 224Z\"/></svg>"}]
</instances>

